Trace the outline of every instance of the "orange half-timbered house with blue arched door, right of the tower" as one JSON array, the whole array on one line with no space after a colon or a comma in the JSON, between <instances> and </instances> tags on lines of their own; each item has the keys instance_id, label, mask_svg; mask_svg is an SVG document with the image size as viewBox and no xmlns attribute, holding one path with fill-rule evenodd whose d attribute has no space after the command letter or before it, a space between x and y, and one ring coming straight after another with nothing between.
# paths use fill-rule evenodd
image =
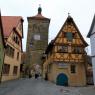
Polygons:
<instances>
[{"instance_id":1,"label":"orange half-timbered house with blue arched door, right of the tower","mask_svg":"<svg viewBox=\"0 0 95 95\"><path fill-rule=\"evenodd\" d=\"M46 49L43 77L58 85L85 86L86 46L73 18L68 16Z\"/></svg>"}]
</instances>

